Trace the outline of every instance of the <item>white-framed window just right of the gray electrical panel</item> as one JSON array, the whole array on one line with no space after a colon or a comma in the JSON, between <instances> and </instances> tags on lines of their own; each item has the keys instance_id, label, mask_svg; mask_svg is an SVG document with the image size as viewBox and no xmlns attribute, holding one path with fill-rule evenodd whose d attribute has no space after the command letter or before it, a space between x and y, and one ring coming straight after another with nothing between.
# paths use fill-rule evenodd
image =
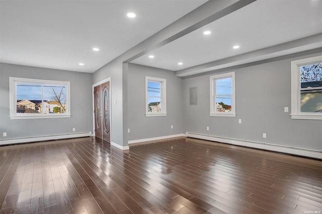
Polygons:
<instances>
[{"instance_id":1,"label":"white-framed window just right of the gray electrical panel","mask_svg":"<svg viewBox=\"0 0 322 214\"><path fill-rule=\"evenodd\" d=\"M210 76L210 116L236 117L234 72Z\"/></svg>"}]
</instances>

